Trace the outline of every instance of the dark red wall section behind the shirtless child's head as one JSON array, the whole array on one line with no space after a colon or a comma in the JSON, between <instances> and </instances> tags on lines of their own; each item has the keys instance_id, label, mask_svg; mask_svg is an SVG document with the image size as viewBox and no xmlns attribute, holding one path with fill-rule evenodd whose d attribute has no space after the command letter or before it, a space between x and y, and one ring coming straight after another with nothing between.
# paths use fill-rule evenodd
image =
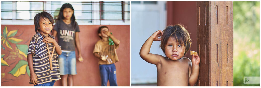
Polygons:
<instances>
[{"instance_id":1,"label":"dark red wall section behind the shirtless child's head","mask_svg":"<svg viewBox=\"0 0 261 88\"><path fill-rule=\"evenodd\" d=\"M192 44L184 57L191 59L190 50L197 51L196 2L167 2L167 25L178 23L190 33Z\"/></svg>"}]
</instances>

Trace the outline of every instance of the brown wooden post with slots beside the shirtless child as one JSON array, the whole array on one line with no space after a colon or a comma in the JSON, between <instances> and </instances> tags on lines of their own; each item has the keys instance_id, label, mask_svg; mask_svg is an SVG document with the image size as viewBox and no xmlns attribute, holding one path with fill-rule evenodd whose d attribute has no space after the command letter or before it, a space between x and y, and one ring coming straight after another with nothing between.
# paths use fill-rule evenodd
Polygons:
<instances>
[{"instance_id":1,"label":"brown wooden post with slots beside the shirtless child","mask_svg":"<svg viewBox=\"0 0 261 88\"><path fill-rule=\"evenodd\" d=\"M233 86L233 2L197 2L197 86Z\"/></svg>"}]
</instances>

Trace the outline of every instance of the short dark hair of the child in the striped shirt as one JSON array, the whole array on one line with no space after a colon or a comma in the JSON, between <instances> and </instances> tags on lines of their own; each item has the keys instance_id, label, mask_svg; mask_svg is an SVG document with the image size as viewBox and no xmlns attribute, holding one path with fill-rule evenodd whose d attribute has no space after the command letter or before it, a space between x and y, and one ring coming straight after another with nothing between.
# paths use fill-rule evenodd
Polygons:
<instances>
[{"instance_id":1,"label":"short dark hair of the child in the striped shirt","mask_svg":"<svg viewBox=\"0 0 261 88\"><path fill-rule=\"evenodd\" d=\"M38 13L35 15L34 17L34 26L35 26L35 33L37 33L37 31L39 30L40 28L40 25L39 25L39 21L41 18L47 18L49 19L49 21L52 23L52 26L54 26L54 19L52 18L52 15L48 12L41 12L41 13Z\"/></svg>"}]
</instances>

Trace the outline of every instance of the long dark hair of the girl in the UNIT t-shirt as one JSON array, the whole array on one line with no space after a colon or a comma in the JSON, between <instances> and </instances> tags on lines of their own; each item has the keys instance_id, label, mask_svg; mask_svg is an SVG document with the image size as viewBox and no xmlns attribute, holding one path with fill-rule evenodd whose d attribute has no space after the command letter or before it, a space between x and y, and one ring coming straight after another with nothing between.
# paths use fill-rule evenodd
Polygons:
<instances>
[{"instance_id":1,"label":"long dark hair of the girl in the UNIT t-shirt","mask_svg":"<svg viewBox=\"0 0 261 88\"><path fill-rule=\"evenodd\" d=\"M71 17L71 24L72 24L73 28L76 28L74 9L73 9L73 6L70 3L65 3L65 4L62 5L57 20L64 19L64 17L63 17L63 9L65 9L65 8L70 8L70 9L73 10L73 15Z\"/></svg>"}]
</instances>

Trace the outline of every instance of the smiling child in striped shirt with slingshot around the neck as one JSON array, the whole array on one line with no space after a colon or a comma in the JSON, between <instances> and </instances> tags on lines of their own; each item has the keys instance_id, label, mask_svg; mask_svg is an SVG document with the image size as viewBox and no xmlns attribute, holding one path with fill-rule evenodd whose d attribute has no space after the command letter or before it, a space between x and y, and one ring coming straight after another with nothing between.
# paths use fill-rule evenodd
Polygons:
<instances>
[{"instance_id":1,"label":"smiling child in striped shirt with slingshot around the neck","mask_svg":"<svg viewBox=\"0 0 261 88\"><path fill-rule=\"evenodd\" d=\"M34 17L36 34L30 40L27 54L29 83L34 86L53 86L55 81L61 79L57 56L61 55L62 50L54 36L49 34L53 23L54 19L48 12L38 13Z\"/></svg>"}]
</instances>

